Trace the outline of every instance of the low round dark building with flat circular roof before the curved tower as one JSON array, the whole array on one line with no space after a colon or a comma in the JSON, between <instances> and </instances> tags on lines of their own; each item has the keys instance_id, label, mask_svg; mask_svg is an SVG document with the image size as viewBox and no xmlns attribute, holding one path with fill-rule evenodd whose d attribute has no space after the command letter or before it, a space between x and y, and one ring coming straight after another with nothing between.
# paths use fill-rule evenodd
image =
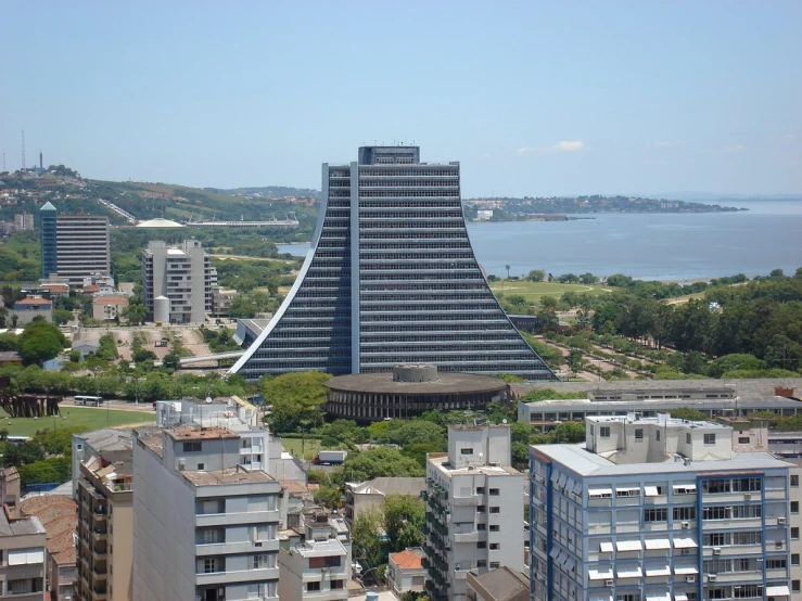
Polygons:
<instances>
[{"instance_id":1,"label":"low round dark building with flat circular roof before the curved tower","mask_svg":"<svg viewBox=\"0 0 802 601\"><path fill-rule=\"evenodd\" d=\"M507 399L507 383L475 373L438 372L431 365L399 365L392 372L339 375L326 383L326 411L338 418L378 421L424 411L484 409Z\"/></svg>"}]
</instances>

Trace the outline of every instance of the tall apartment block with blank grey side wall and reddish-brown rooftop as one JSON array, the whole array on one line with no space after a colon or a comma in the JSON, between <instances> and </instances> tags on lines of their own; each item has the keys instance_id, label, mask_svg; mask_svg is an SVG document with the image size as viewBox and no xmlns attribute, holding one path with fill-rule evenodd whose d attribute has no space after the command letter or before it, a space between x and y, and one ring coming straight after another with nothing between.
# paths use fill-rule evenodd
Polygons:
<instances>
[{"instance_id":1,"label":"tall apartment block with blank grey side wall and reddish-brown rooftop","mask_svg":"<svg viewBox=\"0 0 802 601\"><path fill-rule=\"evenodd\" d=\"M224 426L133 434L133 599L278 599L280 484Z\"/></svg>"}]
</instances>

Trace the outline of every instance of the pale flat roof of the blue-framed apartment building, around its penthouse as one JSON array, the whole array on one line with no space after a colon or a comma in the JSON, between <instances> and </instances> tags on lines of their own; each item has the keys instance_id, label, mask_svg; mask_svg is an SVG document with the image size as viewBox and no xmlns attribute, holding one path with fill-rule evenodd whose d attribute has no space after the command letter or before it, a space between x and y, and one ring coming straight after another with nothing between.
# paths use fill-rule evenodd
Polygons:
<instances>
[{"instance_id":1,"label":"pale flat roof of the blue-framed apartment building, around its penthouse","mask_svg":"<svg viewBox=\"0 0 802 601\"><path fill-rule=\"evenodd\" d=\"M535 445L530 447L536 455L560 463L564 469L580 476L642 476L648 474L688 474L696 472L721 472L733 470L766 470L788 468L788 462L775 458L769 452L733 452L731 459L713 461L675 461L670 457L662 463L613 463L600 455L578 445Z\"/></svg>"}]
</instances>

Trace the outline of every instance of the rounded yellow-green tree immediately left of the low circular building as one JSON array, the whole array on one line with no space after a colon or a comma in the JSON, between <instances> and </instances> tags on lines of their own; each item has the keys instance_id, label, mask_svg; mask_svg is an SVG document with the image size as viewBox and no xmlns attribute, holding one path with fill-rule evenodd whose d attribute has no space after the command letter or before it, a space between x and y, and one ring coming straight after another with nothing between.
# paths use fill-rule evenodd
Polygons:
<instances>
[{"instance_id":1,"label":"rounded yellow-green tree immediately left of the low circular building","mask_svg":"<svg viewBox=\"0 0 802 601\"><path fill-rule=\"evenodd\" d=\"M320 406L328 398L323 383L331 375L319 371L284 373L263 384L265 402L272 405L270 423L275 432L301 432L302 426L323 423Z\"/></svg>"}]
</instances>

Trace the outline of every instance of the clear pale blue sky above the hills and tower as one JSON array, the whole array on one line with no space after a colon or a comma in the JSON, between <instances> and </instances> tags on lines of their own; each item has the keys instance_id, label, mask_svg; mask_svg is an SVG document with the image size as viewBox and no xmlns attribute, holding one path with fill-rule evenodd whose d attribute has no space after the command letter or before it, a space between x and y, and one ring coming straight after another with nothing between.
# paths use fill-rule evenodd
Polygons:
<instances>
[{"instance_id":1,"label":"clear pale blue sky above the hills and tower","mask_svg":"<svg viewBox=\"0 0 802 601\"><path fill-rule=\"evenodd\" d=\"M2 3L0 151L320 188L407 142L462 196L802 193L802 2Z\"/></svg>"}]
</instances>

